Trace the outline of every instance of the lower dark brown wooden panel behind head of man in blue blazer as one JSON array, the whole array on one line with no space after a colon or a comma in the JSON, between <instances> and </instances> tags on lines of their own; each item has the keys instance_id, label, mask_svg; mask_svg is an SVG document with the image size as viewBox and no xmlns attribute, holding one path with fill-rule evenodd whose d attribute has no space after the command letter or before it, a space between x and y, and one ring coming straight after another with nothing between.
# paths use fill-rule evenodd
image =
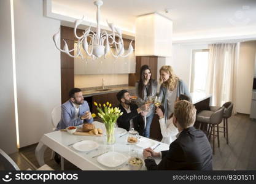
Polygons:
<instances>
[{"instance_id":1,"label":"lower dark brown wooden panel behind head of man in blue blazer","mask_svg":"<svg viewBox=\"0 0 256 184\"><path fill-rule=\"evenodd\" d=\"M61 103L68 101L68 92L74 88L74 69L61 69Z\"/></svg>"}]
</instances>

